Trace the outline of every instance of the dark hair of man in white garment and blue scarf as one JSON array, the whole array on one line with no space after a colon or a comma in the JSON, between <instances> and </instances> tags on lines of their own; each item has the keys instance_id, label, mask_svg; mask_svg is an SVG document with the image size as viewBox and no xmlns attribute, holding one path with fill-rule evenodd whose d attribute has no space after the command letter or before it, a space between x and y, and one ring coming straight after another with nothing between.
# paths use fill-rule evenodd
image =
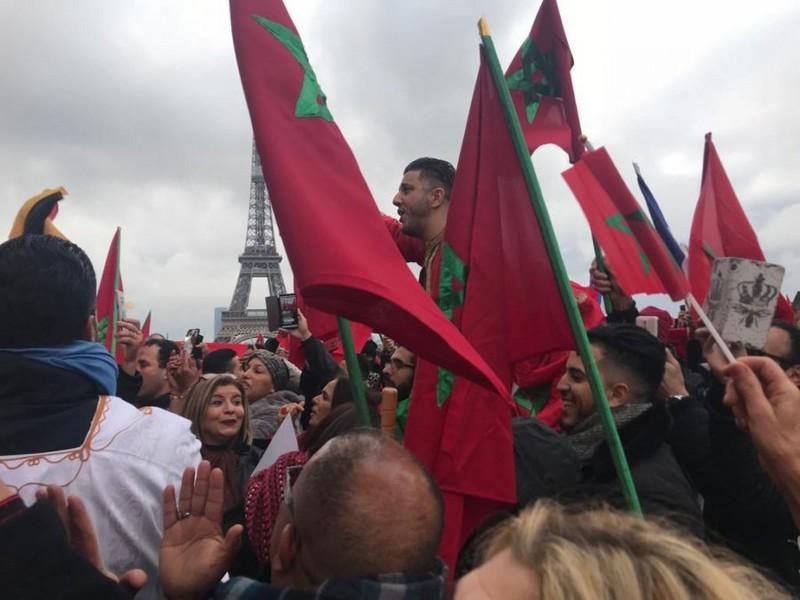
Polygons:
<instances>
[{"instance_id":1,"label":"dark hair of man in white garment and blue scarf","mask_svg":"<svg viewBox=\"0 0 800 600\"><path fill-rule=\"evenodd\" d=\"M0 244L0 348L82 339L96 286L89 257L72 242L26 234Z\"/></svg>"}]
</instances>

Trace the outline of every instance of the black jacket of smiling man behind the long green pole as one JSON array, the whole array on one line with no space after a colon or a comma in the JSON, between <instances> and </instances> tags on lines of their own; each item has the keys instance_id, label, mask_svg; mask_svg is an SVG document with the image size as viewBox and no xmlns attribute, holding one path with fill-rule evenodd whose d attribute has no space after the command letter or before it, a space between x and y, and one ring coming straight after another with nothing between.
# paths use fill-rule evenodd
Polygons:
<instances>
[{"instance_id":1,"label":"black jacket of smiling man behind the long green pole","mask_svg":"<svg viewBox=\"0 0 800 600\"><path fill-rule=\"evenodd\" d=\"M681 470L671 448L666 443L672 421L663 404L654 404L653 408L639 415L619 429L620 440L628 459L634 485L645 515L661 515L689 528L694 533L702 534L702 517L697 496ZM552 432L551 438L560 434ZM540 443L547 443L547 436L542 435ZM520 439L515 435L514 445L517 453L517 473L520 473ZM563 452L574 452L563 444L563 441L552 439L550 443L558 443ZM538 452L534 444L527 452ZM528 457L529 458L529 457ZM563 471L564 465L575 463L574 458L565 457L560 461L560 472L553 475L553 481L566 482L547 486L542 490L543 496L553 497L562 502L604 502L615 508L626 509L625 498L617 479L614 463L606 441L603 441L590 458L577 460L579 473L577 482L570 484L569 475ZM569 467L567 467L569 468ZM546 479L546 478L543 478ZM520 489L526 480L518 481ZM526 498L527 502L536 498Z\"/></svg>"}]
</instances>

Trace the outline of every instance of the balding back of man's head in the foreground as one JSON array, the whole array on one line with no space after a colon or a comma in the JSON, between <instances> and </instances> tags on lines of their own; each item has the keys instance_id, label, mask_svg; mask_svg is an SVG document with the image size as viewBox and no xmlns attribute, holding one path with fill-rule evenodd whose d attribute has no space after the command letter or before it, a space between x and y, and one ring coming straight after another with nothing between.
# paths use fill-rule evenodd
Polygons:
<instances>
[{"instance_id":1,"label":"balding back of man's head in the foreground","mask_svg":"<svg viewBox=\"0 0 800 600\"><path fill-rule=\"evenodd\" d=\"M441 494L416 459L379 431L333 439L305 466L293 493L298 536L319 576L433 568Z\"/></svg>"}]
</instances>

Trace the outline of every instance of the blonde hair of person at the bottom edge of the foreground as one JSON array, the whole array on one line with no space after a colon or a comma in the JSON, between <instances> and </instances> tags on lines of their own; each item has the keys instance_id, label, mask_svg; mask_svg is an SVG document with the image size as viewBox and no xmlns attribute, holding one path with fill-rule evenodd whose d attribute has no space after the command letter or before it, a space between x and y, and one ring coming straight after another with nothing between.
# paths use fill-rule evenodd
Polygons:
<instances>
[{"instance_id":1,"label":"blonde hair of person at the bottom edge of the foreground","mask_svg":"<svg viewBox=\"0 0 800 600\"><path fill-rule=\"evenodd\" d=\"M777 600L790 596L731 553L609 509L540 501L500 526L486 557L510 550L548 600Z\"/></svg>"}]
</instances>

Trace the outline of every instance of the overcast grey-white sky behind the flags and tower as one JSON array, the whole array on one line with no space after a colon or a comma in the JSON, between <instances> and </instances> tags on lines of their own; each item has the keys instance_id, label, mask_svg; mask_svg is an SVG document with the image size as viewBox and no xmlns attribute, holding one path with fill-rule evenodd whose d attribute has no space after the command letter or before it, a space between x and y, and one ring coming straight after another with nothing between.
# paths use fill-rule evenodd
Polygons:
<instances>
[{"instance_id":1,"label":"overcast grey-white sky behind the flags and tower","mask_svg":"<svg viewBox=\"0 0 800 600\"><path fill-rule=\"evenodd\" d=\"M485 15L507 65L536 0L290 0L331 111L379 206L403 166L458 159ZM800 3L561 0L584 131L638 196L639 162L680 241L714 140L767 258L800 287ZM117 225L129 314L211 333L244 247L251 129L222 0L0 0L0 226L64 185L57 224L98 276ZM570 275L591 241L560 173L534 155ZM288 263L284 277L291 282ZM259 281L259 280L257 280ZM251 308L263 307L266 281ZM645 303L666 305L663 297Z\"/></svg>"}]
</instances>

